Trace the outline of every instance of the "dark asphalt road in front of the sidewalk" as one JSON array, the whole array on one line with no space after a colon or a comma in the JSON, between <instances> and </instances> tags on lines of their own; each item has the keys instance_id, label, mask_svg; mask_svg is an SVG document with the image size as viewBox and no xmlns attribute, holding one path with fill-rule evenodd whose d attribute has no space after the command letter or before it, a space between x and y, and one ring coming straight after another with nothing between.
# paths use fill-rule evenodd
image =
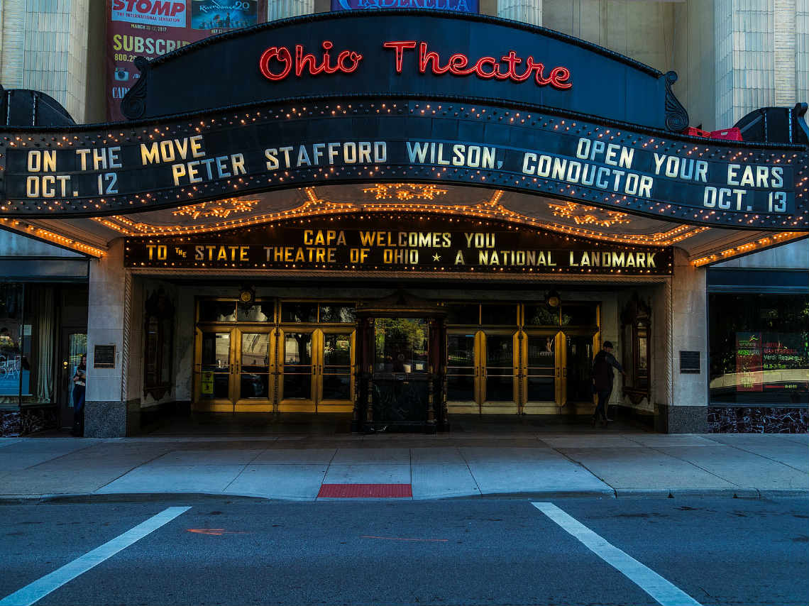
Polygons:
<instances>
[{"instance_id":1,"label":"dark asphalt road in front of the sidewalk","mask_svg":"<svg viewBox=\"0 0 809 606\"><path fill-rule=\"evenodd\" d=\"M809 604L807 499L553 505L699 604ZM4 504L0 604L170 506L36 604L658 604L530 501L481 498Z\"/></svg>"}]
</instances>

